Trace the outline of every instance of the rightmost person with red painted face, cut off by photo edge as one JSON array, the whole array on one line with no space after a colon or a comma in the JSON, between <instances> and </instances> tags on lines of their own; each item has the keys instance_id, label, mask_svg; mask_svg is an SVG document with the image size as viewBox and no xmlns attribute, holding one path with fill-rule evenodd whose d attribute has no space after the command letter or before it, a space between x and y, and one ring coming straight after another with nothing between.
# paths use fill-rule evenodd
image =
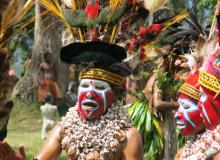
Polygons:
<instances>
[{"instance_id":1,"label":"rightmost person with red painted face, cut off by photo edge","mask_svg":"<svg viewBox=\"0 0 220 160\"><path fill-rule=\"evenodd\" d=\"M216 48L215 46L216 44L213 47L214 49ZM219 53L220 50L215 49L214 54L210 54L208 55L208 57L203 57L204 62L199 73L199 79L197 78L200 84L200 87L197 89L199 89L199 92L201 94L201 97L197 103L197 108L198 110L200 110L200 118L202 118L206 130L202 133L199 133L194 141L189 142L185 145L183 153L180 156L181 158L179 159L219 159L220 99L217 98L219 96L218 93L220 78L220 76L218 75L220 70ZM191 124L193 124L193 122L196 122L196 120L198 119L197 116L188 117L190 117L191 119ZM193 129L189 130L191 130L191 132L195 131Z\"/></svg>"}]
</instances>

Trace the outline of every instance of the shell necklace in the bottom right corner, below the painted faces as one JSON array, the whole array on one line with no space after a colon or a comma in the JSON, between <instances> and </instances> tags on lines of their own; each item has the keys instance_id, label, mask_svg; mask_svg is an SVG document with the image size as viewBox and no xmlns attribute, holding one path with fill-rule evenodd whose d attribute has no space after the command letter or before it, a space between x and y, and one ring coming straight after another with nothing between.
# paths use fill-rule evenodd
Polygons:
<instances>
[{"instance_id":1,"label":"shell necklace in the bottom right corner, below the painted faces","mask_svg":"<svg viewBox=\"0 0 220 160\"><path fill-rule=\"evenodd\" d=\"M214 130L206 130L193 142L187 142L181 160L205 160L220 151L220 125Z\"/></svg>"}]
</instances>

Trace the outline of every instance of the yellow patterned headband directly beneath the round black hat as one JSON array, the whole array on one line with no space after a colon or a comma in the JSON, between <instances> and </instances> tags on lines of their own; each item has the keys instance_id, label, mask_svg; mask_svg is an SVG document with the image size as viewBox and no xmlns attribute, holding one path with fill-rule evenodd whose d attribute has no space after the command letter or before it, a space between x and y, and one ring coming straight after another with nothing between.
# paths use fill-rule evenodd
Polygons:
<instances>
[{"instance_id":1,"label":"yellow patterned headband directly beneath the round black hat","mask_svg":"<svg viewBox=\"0 0 220 160\"><path fill-rule=\"evenodd\" d=\"M85 71L81 71L80 79L86 79L86 78L103 80L118 86L122 86L125 81L124 77L118 74L111 73L106 70L98 69L98 68L90 68Z\"/></svg>"}]
</instances>

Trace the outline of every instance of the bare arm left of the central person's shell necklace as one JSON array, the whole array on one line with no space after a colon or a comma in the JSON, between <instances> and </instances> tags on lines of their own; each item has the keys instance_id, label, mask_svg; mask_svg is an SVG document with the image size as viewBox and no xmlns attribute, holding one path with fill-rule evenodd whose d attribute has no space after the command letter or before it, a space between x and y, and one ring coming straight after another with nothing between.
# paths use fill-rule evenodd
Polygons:
<instances>
[{"instance_id":1,"label":"bare arm left of the central person's shell necklace","mask_svg":"<svg viewBox=\"0 0 220 160\"><path fill-rule=\"evenodd\" d=\"M37 160L57 160L61 151L60 128L56 126L50 132L45 145L35 158Z\"/></svg>"}]
</instances>

